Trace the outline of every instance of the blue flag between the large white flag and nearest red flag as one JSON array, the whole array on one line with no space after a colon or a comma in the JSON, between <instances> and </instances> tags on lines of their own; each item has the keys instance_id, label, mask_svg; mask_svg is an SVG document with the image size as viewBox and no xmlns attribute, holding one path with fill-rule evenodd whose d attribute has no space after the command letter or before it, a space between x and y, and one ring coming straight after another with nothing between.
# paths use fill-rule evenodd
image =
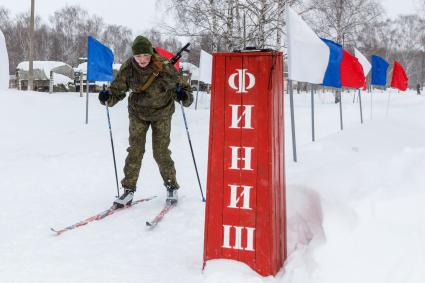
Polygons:
<instances>
[{"instance_id":1,"label":"blue flag between the large white flag and nearest red flag","mask_svg":"<svg viewBox=\"0 0 425 283\"><path fill-rule=\"evenodd\" d=\"M341 87L342 46L329 39L320 38L329 47L329 63L323 78L324 86Z\"/></svg>"}]
</instances>

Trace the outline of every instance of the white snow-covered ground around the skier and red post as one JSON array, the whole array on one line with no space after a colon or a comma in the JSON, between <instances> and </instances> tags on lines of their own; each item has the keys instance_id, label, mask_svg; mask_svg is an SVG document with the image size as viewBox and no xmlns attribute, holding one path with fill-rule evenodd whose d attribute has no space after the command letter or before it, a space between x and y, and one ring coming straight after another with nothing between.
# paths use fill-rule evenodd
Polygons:
<instances>
[{"instance_id":1,"label":"white snow-covered ground around the skier and red post","mask_svg":"<svg viewBox=\"0 0 425 283\"><path fill-rule=\"evenodd\" d=\"M289 258L276 277L210 261L202 272L201 202L180 109L171 150L180 205L155 231L145 221L164 202L151 140L136 198L148 203L53 236L106 209L115 179L106 111L77 93L0 91L0 282L425 282L425 97L363 95L364 124L353 92L343 94L344 130L331 94L316 95L311 142L310 95L295 95L298 162L292 161L286 96ZM388 107L388 108L387 108ZM388 109L388 111L387 111ZM205 188L208 98L186 110ZM372 119L371 119L372 118ZM111 109L119 176L128 137L126 102Z\"/></svg>"}]
</instances>

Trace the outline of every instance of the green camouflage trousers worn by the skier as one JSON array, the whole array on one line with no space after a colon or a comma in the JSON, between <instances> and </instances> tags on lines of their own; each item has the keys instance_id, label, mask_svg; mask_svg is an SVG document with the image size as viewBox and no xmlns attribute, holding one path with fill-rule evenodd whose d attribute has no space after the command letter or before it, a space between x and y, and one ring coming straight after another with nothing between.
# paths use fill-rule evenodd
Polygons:
<instances>
[{"instance_id":1,"label":"green camouflage trousers worn by the skier","mask_svg":"<svg viewBox=\"0 0 425 283\"><path fill-rule=\"evenodd\" d=\"M176 169L171 159L170 145L171 117L159 121L145 121L130 114L130 137L127 158L124 166L124 179L121 185L126 189L136 190L142 159L145 153L146 133L152 128L153 157L165 184L178 188Z\"/></svg>"}]
</instances>

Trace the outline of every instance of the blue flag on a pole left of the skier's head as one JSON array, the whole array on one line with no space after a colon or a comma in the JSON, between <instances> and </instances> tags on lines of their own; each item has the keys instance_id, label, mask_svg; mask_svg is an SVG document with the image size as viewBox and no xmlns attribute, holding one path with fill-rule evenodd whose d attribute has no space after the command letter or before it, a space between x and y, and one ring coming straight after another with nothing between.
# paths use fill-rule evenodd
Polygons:
<instances>
[{"instance_id":1,"label":"blue flag on a pole left of the skier's head","mask_svg":"<svg viewBox=\"0 0 425 283\"><path fill-rule=\"evenodd\" d=\"M94 39L88 37L87 44L87 79L89 81L110 82L114 79L112 50Z\"/></svg>"}]
</instances>

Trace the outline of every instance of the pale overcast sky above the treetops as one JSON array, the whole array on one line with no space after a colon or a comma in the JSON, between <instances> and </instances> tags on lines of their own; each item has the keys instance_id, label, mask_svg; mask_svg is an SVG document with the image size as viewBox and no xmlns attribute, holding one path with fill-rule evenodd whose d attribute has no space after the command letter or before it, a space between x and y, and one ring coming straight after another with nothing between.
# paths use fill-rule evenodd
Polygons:
<instances>
[{"instance_id":1,"label":"pale overcast sky above the treetops","mask_svg":"<svg viewBox=\"0 0 425 283\"><path fill-rule=\"evenodd\" d=\"M49 15L65 5L80 5L90 14L101 16L108 24L127 26L135 34L154 27L163 17L156 11L156 0L35 0L36 14L48 21ZM387 14L415 13L419 0L381 0ZM30 9L31 0L0 0L0 6L8 8L13 14Z\"/></svg>"}]
</instances>

